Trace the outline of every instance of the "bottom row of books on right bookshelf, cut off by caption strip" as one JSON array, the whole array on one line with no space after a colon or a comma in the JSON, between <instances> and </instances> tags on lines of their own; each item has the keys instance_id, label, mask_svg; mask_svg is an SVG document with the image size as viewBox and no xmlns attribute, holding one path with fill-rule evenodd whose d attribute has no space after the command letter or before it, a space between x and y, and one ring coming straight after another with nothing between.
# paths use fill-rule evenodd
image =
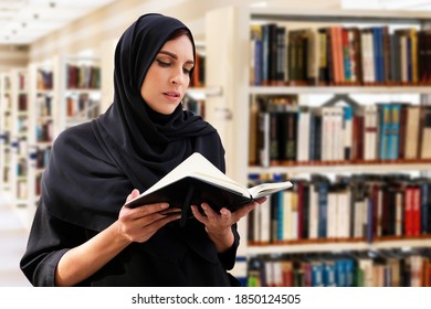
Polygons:
<instances>
[{"instance_id":1,"label":"bottom row of books on right bookshelf, cut off by caption strip","mask_svg":"<svg viewBox=\"0 0 431 309\"><path fill-rule=\"evenodd\" d=\"M248 264L250 287L430 287L429 251L267 257Z\"/></svg>"}]
</instances>

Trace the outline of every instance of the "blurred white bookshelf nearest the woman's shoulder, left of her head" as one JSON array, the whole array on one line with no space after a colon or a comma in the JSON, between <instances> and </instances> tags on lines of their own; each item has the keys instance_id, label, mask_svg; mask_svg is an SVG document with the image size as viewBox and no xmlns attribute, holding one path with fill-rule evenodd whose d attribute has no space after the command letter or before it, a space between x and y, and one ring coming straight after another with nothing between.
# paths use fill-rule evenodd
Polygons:
<instances>
[{"instance_id":1,"label":"blurred white bookshelf nearest the woman's shoulder, left of her head","mask_svg":"<svg viewBox=\"0 0 431 309\"><path fill-rule=\"evenodd\" d=\"M61 60L57 132L101 114L101 67L98 57L65 56Z\"/></svg>"}]
</instances>

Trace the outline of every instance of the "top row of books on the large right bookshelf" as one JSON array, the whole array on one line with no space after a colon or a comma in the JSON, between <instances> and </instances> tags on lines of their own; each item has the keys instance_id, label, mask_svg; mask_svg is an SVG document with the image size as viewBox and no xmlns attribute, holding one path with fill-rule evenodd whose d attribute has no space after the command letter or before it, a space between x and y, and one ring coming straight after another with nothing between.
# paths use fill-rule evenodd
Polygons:
<instances>
[{"instance_id":1,"label":"top row of books on the large right bookshelf","mask_svg":"<svg viewBox=\"0 0 431 309\"><path fill-rule=\"evenodd\" d=\"M251 85L431 83L431 32L340 24L251 25Z\"/></svg>"}]
</instances>

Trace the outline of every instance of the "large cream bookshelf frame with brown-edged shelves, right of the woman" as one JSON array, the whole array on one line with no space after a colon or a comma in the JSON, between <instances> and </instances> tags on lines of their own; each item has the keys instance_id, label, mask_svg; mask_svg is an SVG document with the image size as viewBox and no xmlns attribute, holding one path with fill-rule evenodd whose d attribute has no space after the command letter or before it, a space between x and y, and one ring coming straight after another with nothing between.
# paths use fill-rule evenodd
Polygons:
<instances>
[{"instance_id":1,"label":"large cream bookshelf frame with brown-edged shelves, right of the woman","mask_svg":"<svg viewBox=\"0 0 431 309\"><path fill-rule=\"evenodd\" d=\"M219 25L217 20L223 18L225 25ZM210 122L214 122L221 129L222 140L227 148L228 173L233 178L241 180L243 183L249 181L251 174L270 175L284 174L293 180L303 180L304 177L312 174L336 175L336 174L371 174L378 177L380 174L407 173L422 177L429 174L430 160L416 158L414 160L324 160L318 162L287 162L261 164L253 162L250 164L250 115L251 103L256 97L293 97L297 105L301 106L319 106L334 95L348 97L372 97L372 102L368 99L356 98L365 105L372 105L378 102L403 102L407 98L412 105L425 105L427 97L430 95L429 81L402 81L396 83L393 81L375 82L327 82L325 85L320 81L309 83L308 79L287 79L282 81L264 81L255 85L252 79L252 74L255 72L255 63L252 62L254 56L253 47L251 46L251 24L276 23L284 25L287 30L294 31L313 26L315 29L326 28L335 24L346 24L353 26L375 25L395 25L396 29L414 28L420 29L422 24L429 21L430 17L421 12L359 12L359 11L298 11L290 9L251 9L248 7L224 8L210 12L207 15L207 40L208 45L208 76L212 84L221 85L223 96L218 102L208 102L210 107ZM217 25L217 26L214 26ZM224 29L224 26L227 29ZM229 29L229 30L228 30ZM233 29L233 31L231 31ZM288 34L287 34L288 35ZM287 36L285 38L287 42ZM227 41L227 46L211 45L211 41ZM285 43L287 44L287 43ZM287 47L286 47L287 49ZM228 52L225 51L228 50ZM248 55L248 56L244 56ZM286 62L287 62L286 55ZM217 63L218 66L212 66L211 63ZM234 66L231 64L235 63ZM287 64L284 64L287 66ZM253 70L253 71L252 71ZM262 68L263 70L263 68ZM275 70L275 68L274 68ZM230 77L225 76L224 72L229 72ZM292 75L292 74L291 74ZM292 75L293 76L293 75ZM228 83L225 83L228 82ZM324 99L323 99L324 97ZM218 104L218 108L224 108L232 115L232 119L223 119L220 122L220 117L217 117L212 104ZM348 105L348 104L347 104ZM248 129L245 129L248 128ZM269 131L269 130L267 130ZM231 134L229 134L231 132ZM232 134L233 132L233 134ZM266 205L269 207L269 205ZM271 216L267 211L260 215ZM252 216L252 215L250 215ZM271 217L261 222L263 226L270 230ZM281 256L290 258L295 254L305 254L308 256L319 255L318 258L325 258L328 254L338 252L340 254L369 252L385 253L410 249L421 251L430 247L428 235L417 237L371 237L354 238L354 237L327 237L325 239L287 239L287 241L250 241L250 233L254 233L250 222L241 222L240 233L242 235L242 245L239 249L239 255L243 255L255 262L255 258L261 256L266 262L275 259L280 260ZM274 228L274 227L273 227ZM280 228L280 227L278 227ZM269 235L266 235L269 236ZM244 241L249 239L249 241ZM429 257L427 253L425 256ZM330 259L330 257L329 257ZM271 264L271 263L267 263ZM262 266L262 265L261 265ZM266 266L266 265L265 265ZM264 267L265 267L264 266ZM241 268L244 266L241 265ZM250 268L249 264L249 278Z\"/></svg>"}]
</instances>

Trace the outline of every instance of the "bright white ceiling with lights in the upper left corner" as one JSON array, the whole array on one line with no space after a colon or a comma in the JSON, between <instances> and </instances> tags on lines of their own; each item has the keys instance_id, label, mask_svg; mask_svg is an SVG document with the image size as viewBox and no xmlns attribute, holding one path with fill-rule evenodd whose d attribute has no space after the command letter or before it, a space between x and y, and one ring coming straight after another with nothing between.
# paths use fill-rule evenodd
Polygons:
<instances>
[{"instance_id":1,"label":"bright white ceiling with lights in the upper left corner","mask_svg":"<svg viewBox=\"0 0 431 309\"><path fill-rule=\"evenodd\" d=\"M30 44L114 0L0 0L0 44Z\"/></svg>"}]
</instances>

